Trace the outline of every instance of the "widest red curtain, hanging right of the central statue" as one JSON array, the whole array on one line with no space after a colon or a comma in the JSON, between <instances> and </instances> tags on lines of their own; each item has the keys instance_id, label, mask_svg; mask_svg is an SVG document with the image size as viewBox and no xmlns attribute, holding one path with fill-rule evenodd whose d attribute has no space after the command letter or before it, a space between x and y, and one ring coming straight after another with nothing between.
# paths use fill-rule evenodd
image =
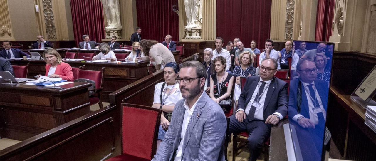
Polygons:
<instances>
[{"instance_id":1,"label":"widest red curtain, hanging right of the central statue","mask_svg":"<svg viewBox=\"0 0 376 161\"><path fill-rule=\"evenodd\" d=\"M224 44L240 38L244 47L250 47L254 39L257 48L264 49L262 44L270 37L270 17L271 0L217 0L217 36Z\"/></svg>"}]
</instances>

